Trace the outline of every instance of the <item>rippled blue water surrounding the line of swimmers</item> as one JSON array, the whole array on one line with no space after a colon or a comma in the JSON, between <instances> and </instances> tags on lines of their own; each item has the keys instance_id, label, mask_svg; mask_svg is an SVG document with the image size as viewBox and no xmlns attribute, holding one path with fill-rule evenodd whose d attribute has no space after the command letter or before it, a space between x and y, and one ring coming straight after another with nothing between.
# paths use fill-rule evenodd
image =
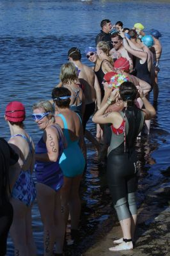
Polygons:
<instances>
[{"instance_id":1,"label":"rippled blue water surrounding the line of swimmers","mask_svg":"<svg viewBox=\"0 0 170 256\"><path fill-rule=\"evenodd\" d=\"M160 3L159 3L160 2ZM67 51L79 47L82 62L90 65L84 49L95 45L100 21L121 20L124 27L144 24L146 31L155 28L162 33L162 58L159 73L160 95L157 117L153 120L151 135L137 143L141 172L139 189L147 189L150 182L160 179L160 170L169 166L169 1L0 1L0 131L8 139L10 131L4 122L4 109L12 100L26 106L26 129L33 140L41 132L31 120L31 106L38 100L50 99L52 88L59 81L59 71L67 61ZM152 95L151 95L152 100ZM95 125L88 124L95 134ZM151 154L152 153L152 154ZM88 144L88 170L82 182L82 237L93 234L112 212L104 206L110 202L105 193L105 166L97 165L96 152ZM142 193L139 193L139 202ZM38 253L42 253L42 223L35 204L33 228ZM84 239L84 238L83 238ZM86 239L87 240L87 239ZM82 246L83 247L83 246ZM80 249L81 250L81 249ZM8 255L13 255L8 242ZM74 254L75 255L75 254ZM77 254L79 255L79 254Z\"/></svg>"}]
</instances>

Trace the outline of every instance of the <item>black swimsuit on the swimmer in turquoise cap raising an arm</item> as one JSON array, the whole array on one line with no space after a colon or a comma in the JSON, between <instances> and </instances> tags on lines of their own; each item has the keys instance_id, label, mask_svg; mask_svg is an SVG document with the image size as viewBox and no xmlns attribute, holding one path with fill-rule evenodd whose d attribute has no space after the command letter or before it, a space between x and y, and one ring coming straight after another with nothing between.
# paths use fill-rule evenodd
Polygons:
<instances>
[{"instance_id":1,"label":"black swimsuit on the swimmer in turquoise cap raising an arm","mask_svg":"<svg viewBox=\"0 0 170 256\"><path fill-rule=\"evenodd\" d=\"M136 71L135 76L151 84L151 73L148 70L148 54L147 54L146 61L143 64L140 63L140 60L141 59L137 57L135 58L135 71Z\"/></svg>"}]
</instances>

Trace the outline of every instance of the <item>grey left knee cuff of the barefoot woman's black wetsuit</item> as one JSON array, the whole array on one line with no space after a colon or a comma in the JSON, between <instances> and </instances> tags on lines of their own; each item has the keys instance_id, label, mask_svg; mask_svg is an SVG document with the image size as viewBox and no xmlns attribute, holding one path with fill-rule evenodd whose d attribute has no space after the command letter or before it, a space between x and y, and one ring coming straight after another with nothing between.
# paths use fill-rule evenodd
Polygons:
<instances>
[{"instance_id":1,"label":"grey left knee cuff of the barefoot woman's black wetsuit","mask_svg":"<svg viewBox=\"0 0 170 256\"><path fill-rule=\"evenodd\" d=\"M125 220L130 218L130 212L127 206L127 199L125 197L120 198L116 205L114 205L114 209L118 214L118 220Z\"/></svg>"}]
</instances>

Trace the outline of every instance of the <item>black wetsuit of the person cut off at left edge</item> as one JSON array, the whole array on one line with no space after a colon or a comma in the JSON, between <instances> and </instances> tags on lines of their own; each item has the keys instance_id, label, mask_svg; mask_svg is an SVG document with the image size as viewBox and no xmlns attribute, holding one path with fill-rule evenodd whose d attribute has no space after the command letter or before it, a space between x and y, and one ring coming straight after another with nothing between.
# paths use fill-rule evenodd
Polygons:
<instances>
[{"instance_id":1,"label":"black wetsuit of the person cut off at left edge","mask_svg":"<svg viewBox=\"0 0 170 256\"><path fill-rule=\"evenodd\" d=\"M0 138L0 256L6 255L6 240L13 219L13 207L6 193L9 188L8 172L19 156Z\"/></svg>"}]
</instances>

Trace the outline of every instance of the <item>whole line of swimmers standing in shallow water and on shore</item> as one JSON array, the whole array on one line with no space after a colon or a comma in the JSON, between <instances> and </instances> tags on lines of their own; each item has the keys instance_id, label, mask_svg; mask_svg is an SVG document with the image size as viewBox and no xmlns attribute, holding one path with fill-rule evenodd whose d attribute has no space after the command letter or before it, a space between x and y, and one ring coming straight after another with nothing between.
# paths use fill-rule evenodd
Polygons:
<instances>
[{"instance_id":1,"label":"whole line of swimmers standing in shallow water and on shore","mask_svg":"<svg viewBox=\"0 0 170 256\"><path fill-rule=\"evenodd\" d=\"M112 26L105 19L100 26L97 45L86 47L86 57L95 66L84 65L80 49L72 47L52 99L33 105L33 120L43 132L36 145L24 129L24 105L13 101L6 106L4 116L11 137L8 143L1 139L0 147L0 256L6 253L9 229L15 256L36 255L31 225L35 198L43 223L44 255L64 255L68 216L76 241L81 215L79 188L88 163L84 138L95 145L99 159L107 161L109 191L123 232L109 250L134 246L135 140L143 126L149 134L150 120L156 114L148 99L151 88L153 100L158 99L161 35L156 29L145 35L140 23L123 29L122 22ZM96 138L86 129L91 115L97 124Z\"/></svg>"}]
</instances>

